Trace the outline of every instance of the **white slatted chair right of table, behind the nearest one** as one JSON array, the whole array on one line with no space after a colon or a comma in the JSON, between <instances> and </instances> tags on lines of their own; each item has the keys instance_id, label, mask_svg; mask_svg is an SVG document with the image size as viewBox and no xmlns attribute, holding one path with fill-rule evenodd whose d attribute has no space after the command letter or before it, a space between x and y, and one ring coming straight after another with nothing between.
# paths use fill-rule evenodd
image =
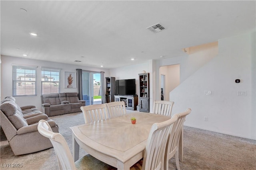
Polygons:
<instances>
[{"instance_id":1,"label":"white slatted chair right of table, behind the nearest one","mask_svg":"<svg viewBox=\"0 0 256 170\"><path fill-rule=\"evenodd\" d=\"M179 141L180 135L182 133L183 124L186 116L191 113L191 109L186 109L182 113L177 113L173 116L178 115L178 120L174 123L172 130L168 136L168 141L166 145L166 151L164 154L164 170L168 170L168 161L175 155L177 169L180 170L179 164ZM183 147L183 146L182 146Z\"/></svg>"}]
</instances>

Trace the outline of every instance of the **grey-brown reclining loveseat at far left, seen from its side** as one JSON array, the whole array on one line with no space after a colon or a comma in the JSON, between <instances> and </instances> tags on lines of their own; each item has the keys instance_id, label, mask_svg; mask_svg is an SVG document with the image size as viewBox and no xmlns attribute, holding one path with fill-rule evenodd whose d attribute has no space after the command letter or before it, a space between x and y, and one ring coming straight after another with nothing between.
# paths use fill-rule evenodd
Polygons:
<instances>
[{"instance_id":1,"label":"grey-brown reclining loveseat at far left, seen from its side","mask_svg":"<svg viewBox=\"0 0 256 170\"><path fill-rule=\"evenodd\" d=\"M1 127L6 135L14 155L28 154L52 147L49 139L38 130L38 121L45 119L52 131L59 132L58 125L40 112L35 106L19 107L12 96L1 102Z\"/></svg>"}]
</instances>

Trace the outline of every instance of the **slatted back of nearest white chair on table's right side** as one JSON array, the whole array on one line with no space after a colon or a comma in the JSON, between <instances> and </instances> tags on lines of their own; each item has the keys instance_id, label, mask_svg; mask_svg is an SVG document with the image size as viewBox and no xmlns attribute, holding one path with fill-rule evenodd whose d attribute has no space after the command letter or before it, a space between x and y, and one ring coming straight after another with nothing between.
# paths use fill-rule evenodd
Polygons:
<instances>
[{"instance_id":1,"label":"slatted back of nearest white chair on table's right side","mask_svg":"<svg viewBox=\"0 0 256 170\"><path fill-rule=\"evenodd\" d=\"M168 134L177 119L178 115L173 116L167 121L152 125L144 152L143 170L160 170L164 168L164 152Z\"/></svg>"}]
</instances>

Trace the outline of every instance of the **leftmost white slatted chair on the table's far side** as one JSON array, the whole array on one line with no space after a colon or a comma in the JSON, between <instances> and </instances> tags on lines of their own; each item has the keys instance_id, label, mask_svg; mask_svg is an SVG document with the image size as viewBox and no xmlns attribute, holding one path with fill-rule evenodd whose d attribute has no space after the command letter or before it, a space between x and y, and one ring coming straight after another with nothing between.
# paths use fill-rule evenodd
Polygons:
<instances>
[{"instance_id":1,"label":"leftmost white slatted chair on the table's far side","mask_svg":"<svg viewBox=\"0 0 256 170\"><path fill-rule=\"evenodd\" d=\"M85 123L90 123L109 118L108 108L106 104L81 106L80 109L83 112Z\"/></svg>"}]
</instances>

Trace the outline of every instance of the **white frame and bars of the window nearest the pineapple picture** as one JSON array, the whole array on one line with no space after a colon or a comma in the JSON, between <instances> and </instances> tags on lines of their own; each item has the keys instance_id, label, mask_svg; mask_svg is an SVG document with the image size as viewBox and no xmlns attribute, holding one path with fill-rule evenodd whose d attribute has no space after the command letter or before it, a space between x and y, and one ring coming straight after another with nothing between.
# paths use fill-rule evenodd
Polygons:
<instances>
[{"instance_id":1,"label":"white frame and bars of the window nearest the pineapple picture","mask_svg":"<svg viewBox=\"0 0 256 170\"><path fill-rule=\"evenodd\" d=\"M43 72L50 72L50 74L44 74ZM57 74L52 74L53 72L56 72L56 73L58 72L59 74L58 75ZM43 76L45 76L45 75L50 75L50 78L47 78L48 81L45 81L45 80L43 81L42 80ZM58 81L51 81L51 76L52 75L57 76ZM49 67L42 67L41 68L41 95L46 94L46 93L60 93L60 83L61 83L60 75L61 75L61 69L60 68L49 68ZM49 79L50 79L50 81L49 81ZM52 89L54 89L54 88L52 88L52 84L50 84L50 92L43 93L43 89L44 89L43 84L45 82L58 83L58 92L52 92ZM44 92L45 92L45 90L44 90Z\"/></svg>"}]
</instances>

